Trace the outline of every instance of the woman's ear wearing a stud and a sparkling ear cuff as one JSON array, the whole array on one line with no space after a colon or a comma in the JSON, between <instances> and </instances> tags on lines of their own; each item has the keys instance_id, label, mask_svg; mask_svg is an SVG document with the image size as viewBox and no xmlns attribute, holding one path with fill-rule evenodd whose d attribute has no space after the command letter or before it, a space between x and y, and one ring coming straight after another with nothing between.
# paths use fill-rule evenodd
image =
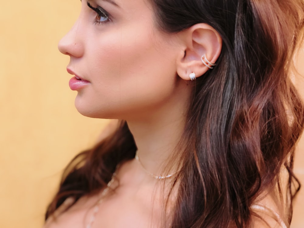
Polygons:
<instances>
[{"instance_id":1,"label":"woman's ear wearing a stud and a sparkling ear cuff","mask_svg":"<svg viewBox=\"0 0 304 228\"><path fill-rule=\"evenodd\" d=\"M176 70L182 79L190 80L192 72L198 78L216 67L210 63L215 64L221 53L222 38L213 27L205 23L195 24L181 33L181 41L184 50L177 59Z\"/></svg>"}]
</instances>

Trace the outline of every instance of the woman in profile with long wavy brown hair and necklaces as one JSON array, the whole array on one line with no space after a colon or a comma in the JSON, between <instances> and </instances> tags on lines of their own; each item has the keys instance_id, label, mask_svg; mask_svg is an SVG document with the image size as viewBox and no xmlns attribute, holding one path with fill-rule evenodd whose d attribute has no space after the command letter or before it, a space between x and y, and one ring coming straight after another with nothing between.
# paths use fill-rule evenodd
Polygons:
<instances>
[{"instance_id":1,"label":"woman in profile with long wavy brown hair and necklaces","mask_svg":"<svg viewBox=\"0 0 304 228\"><path fill-rule=\"evenodd\" d=\"M122 120L68 165L45 227L288 227L303 2L81 4L59 43L75 106Z\"/></svg>"}]
</instances>

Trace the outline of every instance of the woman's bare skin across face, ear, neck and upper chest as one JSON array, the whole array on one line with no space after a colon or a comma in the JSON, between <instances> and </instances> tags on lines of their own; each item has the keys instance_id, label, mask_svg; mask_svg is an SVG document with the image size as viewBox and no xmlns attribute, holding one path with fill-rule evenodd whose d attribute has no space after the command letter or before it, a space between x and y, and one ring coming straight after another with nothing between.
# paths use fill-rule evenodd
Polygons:
<instances>
[{"instance_id":1,"label":"woman's bare skin across face, ear, neck and upper chest","mask_svg":"<svg viewBox=\"0 0 304 228\"><path fill-rule=\"evenodd\" d=\"M161 174L185 125L193 89L189 74L199 77L208 71L200 57L206 54L216 62L222 41L206 24L166 34L157 29L146 0L115 2L118 6L105 0L89 2L111 15L109 21L95 24L106 18L83 0L78 20L58 48L70 57L68 71L90 82L77 91L77 110L88 117L127 120L143 166ZM93 227L160 227L160 182L135 159L116 173L119 187L99 206ZM84 227L100 194L83 197L60 214L63 206L57 220L50 218L44 227Z\"/></svg>"}]
</instances>

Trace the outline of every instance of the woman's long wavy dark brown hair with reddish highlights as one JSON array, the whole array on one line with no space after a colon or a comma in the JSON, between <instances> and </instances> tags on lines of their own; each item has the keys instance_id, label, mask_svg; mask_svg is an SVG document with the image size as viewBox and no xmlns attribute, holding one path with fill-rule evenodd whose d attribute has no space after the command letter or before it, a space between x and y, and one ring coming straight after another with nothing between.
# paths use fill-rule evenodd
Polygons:
<instances>
[{"instance_id":1,"label":"woman's long wavy dark brown hair with reddish highlights","mask_svg":"<svg viewBox=\"0 0 304 228\"><path fill-rule=\"evenodd\" d=\"M245 227L257 196L289 173L304 127L304 107L291 80L292 57L303 40L301 0L150 0L156 26L178 33L207 23L223 39L217 66L195 81L179 153L182 169L171 227ZM75 202L134 158L125 121L67 166L46 218L68 197ZM292 205L289 203L289 223Z\"/></svg>"}]
</instances>

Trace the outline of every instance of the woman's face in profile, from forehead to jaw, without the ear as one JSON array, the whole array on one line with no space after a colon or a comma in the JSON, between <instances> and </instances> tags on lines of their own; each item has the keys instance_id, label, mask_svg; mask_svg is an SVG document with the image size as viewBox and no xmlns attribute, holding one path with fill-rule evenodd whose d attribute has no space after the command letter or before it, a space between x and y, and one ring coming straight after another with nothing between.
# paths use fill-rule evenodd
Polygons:
<instances>
[{"instance_id":1,"label":"woman's face in profile, from forehead to jaw, without the ear","mask_svg":"<svg viewBox=\"0 0 304 228\"><path fill-rule=\"evenodd\" d=\"M115 2L114 2L115 1ZM148 115L178 93L178 37L159 31L145 0L82 0L72 29L58 45L77 75L75 106L90 117ZM185 84L185 82L183 81Z\"/></svg>"}]
</instances>

